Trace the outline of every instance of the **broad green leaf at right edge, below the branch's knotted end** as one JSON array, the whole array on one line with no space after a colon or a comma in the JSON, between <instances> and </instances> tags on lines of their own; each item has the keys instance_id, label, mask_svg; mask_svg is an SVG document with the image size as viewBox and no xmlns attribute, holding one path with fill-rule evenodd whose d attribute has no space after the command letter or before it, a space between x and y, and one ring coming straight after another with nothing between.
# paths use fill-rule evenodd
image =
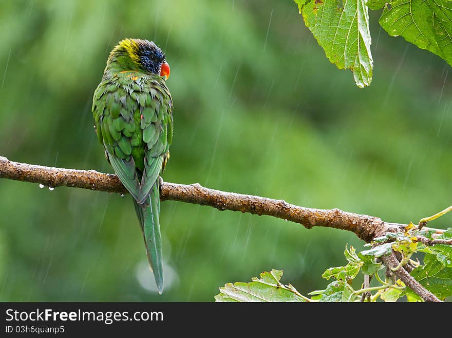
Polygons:
<instances>
[{"instance_id":1,"label":"broad green leaf at right edge, below the branch's knotted end","mask_svg":"<svg viewBox=\"0 0 452 338\"><path fill-rule=\"evenodd\" d=\"M452 268L444 266L436 255L426 254L424 265L411 271L411 276L438 298L452 296Z\"/></svg>"}]
</instances>

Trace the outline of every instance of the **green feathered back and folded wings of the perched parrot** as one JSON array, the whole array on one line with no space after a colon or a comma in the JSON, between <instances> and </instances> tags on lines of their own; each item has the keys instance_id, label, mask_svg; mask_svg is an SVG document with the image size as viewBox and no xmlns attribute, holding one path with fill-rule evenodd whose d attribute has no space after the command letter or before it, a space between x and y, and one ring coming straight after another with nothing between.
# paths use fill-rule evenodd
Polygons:
<instances>
[{"instance_id":1,"label":"green feathered back and folded wings of the perched parrot","mask_svg":"<svg viewBox=\"0 0 452 338\"><path fill-rule=\"evenodd\" d=\"M106 74L94 93L92 112L111 166L142 202L173 138L173 101L164 80L135 71Z\"/></svg>"}]
</instances>

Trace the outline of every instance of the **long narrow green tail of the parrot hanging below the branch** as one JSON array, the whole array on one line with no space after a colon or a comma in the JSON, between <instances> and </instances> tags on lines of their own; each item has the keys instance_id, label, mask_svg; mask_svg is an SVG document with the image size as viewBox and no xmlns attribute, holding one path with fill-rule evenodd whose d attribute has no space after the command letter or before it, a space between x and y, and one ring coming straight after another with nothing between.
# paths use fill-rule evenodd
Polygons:
<instances>
[{"instance_id":1,"label":"long narrow green tail of the parrot hanging below the branch","mask_svg":"<svg viewBox=\"0 0 452 338\"><path fill-rule=\"evenodd\" d=\"M154 272L157 290L163 292L162 238L160 235L160 191L156 182L143 204L134 200L135 211L140 221L146 245L150 270Z\"/></svg>"}]
</instances>

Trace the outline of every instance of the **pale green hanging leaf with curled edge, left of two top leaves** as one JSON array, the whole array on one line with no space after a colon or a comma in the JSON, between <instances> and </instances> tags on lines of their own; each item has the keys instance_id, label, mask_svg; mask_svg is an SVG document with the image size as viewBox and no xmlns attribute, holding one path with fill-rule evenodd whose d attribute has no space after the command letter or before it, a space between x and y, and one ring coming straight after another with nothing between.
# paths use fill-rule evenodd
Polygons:
<instances>
[{"instance_id":1,"label":"pale green hanging leaf with curled edge, left of two top leaves","mask_svg":"<svg viewBox=\"0 0 452 338\"><path fill-rule=\"evenodd\" d=\"M369 14L365 0L294 0L331 63L350 69L358 87L372 81ZM344 7L340 7L341 4Z\"/></svg>"}]
</instances>

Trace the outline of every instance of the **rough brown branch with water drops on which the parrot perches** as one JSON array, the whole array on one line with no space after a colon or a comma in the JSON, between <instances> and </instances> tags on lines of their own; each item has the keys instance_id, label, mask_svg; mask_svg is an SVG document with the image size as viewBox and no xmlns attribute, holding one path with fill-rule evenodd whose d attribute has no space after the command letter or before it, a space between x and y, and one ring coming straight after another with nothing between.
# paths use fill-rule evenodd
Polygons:
<instances>
[{"instance_id":1,"label":"rough brown branch with water drops on which the parrot perches","mask_svg":"<svg viewBox=\"0 0 452 338\"><path fill-rule=\"evenodd\" d=\"M0 178L40 183L48 187L75 187L106 192L126 194L118 176L95 170L74 170L36 166L9 161L0 156ZM284 200L272 200L265 197L238 194L204 188L195 183L191 185L161 181L160 199L208 205L219 210L249 212L255 215L268 215L302 224L306 228L314 226L348 230L369 243L375 237L388 232L403 230L405 224L386 223L378 217L358 215L339 209L313 209L289 204ZM440 230L438 230L440 232ZM393 255L392 255L393 256ZM387 266L398 265L394 256L384 258ZM403 268L396 271L399 278L426 301L439 300L421 286Z\"/></svg>"}]
</instances>

